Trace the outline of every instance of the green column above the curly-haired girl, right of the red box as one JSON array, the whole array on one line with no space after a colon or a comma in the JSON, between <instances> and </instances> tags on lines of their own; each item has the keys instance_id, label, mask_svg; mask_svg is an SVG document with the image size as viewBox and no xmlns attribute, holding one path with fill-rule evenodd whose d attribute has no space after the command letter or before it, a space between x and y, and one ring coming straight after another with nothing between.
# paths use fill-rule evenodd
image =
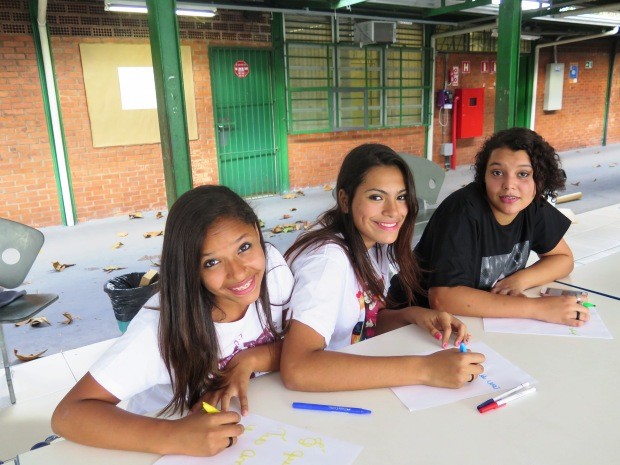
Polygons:
<instances>
[{"instance_id":1,"label":"green column above the curly-haired girl, right of the red box","mask_svg":"<svg viewBox=\"0 0 620 465\"><path fill-rule=\"evenodd\" d=\"M499 6L497 39L496 132L515 125L520 37L521 0L503 0Z\"/></svg>"}]
</instances>

